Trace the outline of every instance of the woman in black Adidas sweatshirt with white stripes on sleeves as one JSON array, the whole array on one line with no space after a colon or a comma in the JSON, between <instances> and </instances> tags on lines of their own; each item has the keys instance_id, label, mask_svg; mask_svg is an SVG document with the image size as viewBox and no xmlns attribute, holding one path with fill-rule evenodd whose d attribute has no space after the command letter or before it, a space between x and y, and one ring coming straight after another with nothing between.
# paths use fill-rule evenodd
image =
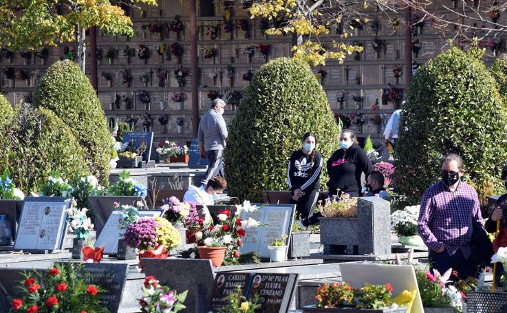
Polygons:
<instances>
[{"instance_id":1,"label":"woman in black Adidas sweatshirt with white stripes on sleeves","mask_svg":"<svg viewBox=\"0 0 507 313\"><path fill-rule=\"evenodd\" d=\"M290 155L287 182L290 202L296 204L297 215L304 220L313 215L319 198L322 155L315 149L317 138L314 133L305 133L302 143L303 149Z\"/></svg>"}]
</instances>

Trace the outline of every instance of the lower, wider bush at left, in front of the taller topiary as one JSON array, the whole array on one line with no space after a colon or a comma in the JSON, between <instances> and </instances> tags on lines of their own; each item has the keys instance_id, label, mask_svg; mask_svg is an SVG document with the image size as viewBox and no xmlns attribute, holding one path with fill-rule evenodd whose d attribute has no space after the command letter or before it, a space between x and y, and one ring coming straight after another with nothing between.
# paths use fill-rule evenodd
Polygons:
<instances>
[{"instance_id":1,"label":"lower, wider bush at left, in front of the taller topiary","mask_svg":"<svg viewBox=\"0 0 507 313\"><path fill-rule=\"evenodd\" d=\"M52 171L66 179L89 175L83 147L48 109L21 105L1 130L0 144L0 168L8 166L12 181L25 193L38 190Z\"/></svg>"}]
</instances>

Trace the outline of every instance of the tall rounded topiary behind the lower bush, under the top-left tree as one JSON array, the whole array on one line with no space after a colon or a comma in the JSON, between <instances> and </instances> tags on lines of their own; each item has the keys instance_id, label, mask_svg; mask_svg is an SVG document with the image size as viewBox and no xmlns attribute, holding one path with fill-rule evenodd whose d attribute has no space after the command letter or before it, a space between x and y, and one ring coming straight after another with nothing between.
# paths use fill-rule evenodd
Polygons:
<instances>
[{"instance_id":1,"label":"tall rounded topiary behind the lower bush, under the top-left tree","mask_svg":"<svg viewBox=\"0 0 507 313\"><path fill-rule=\"evenodd\" d=\"M109 179L110 134L95 90L76 63L66 60L51 65L39 80L34 106L50 109L69 125L85 150L85 162L103 182Z\"/></svg>"}]
</instances>

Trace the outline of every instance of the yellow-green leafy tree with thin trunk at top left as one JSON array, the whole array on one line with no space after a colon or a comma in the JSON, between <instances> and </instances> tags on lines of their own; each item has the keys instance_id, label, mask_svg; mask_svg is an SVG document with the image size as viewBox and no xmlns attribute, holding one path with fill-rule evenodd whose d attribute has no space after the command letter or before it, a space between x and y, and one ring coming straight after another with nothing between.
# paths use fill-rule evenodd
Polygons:
<instances>
[{"instance_id":1,"label":"yellow-green leafy tree with thin trunk at top left","mask_svg":"<svg viewBox=\"0 0 507 313\"><path fill-rule=\"evenodd\" d=\"M131 0L157 5L156 0ZM36 50L45 45L76 43L76 62L85 71L85 31L133 36L132 21L109 0L0 0L0 47Z\"/></svg>"}]
</instances>

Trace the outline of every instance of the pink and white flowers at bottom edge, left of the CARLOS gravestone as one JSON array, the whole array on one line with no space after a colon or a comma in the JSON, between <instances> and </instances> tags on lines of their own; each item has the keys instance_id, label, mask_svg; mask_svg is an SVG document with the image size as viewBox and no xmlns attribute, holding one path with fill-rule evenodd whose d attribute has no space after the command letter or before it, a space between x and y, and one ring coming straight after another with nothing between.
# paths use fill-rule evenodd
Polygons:
<instances>
[{"instance_id":1,"label":"pink and white flowers at bottom edge, left of the CARLOS gravestone","mask_svg":"<svg viewBox=\"0 0 507 313\"><path fill-rule=\"evenodd\" d=\"M142 284L142 299L139 299L142 313L180 312L185 310L183 304L188 290L178 293L169 287L160 285L153 276L146 277Z\"/></svg>"}]
</instances>

